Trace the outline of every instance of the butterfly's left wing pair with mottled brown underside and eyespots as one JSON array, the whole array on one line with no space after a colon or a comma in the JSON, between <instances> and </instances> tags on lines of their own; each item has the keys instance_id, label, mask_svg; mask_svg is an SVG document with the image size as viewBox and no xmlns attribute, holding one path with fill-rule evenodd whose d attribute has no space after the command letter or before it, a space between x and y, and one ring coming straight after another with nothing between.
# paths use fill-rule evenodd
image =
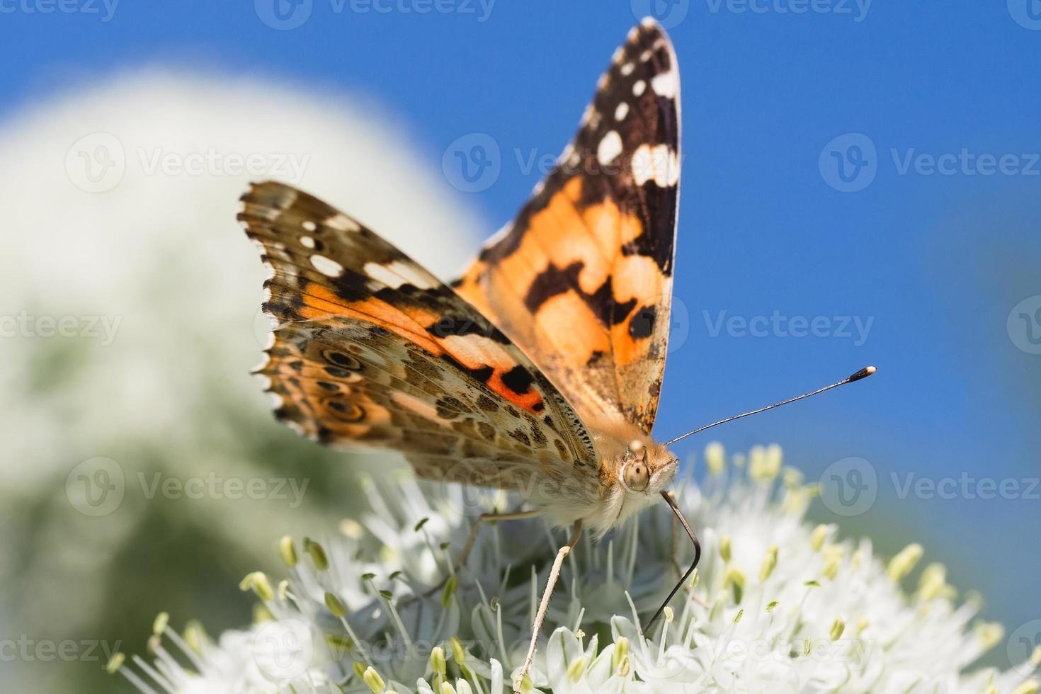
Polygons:
<instances>
[{"instance_id":1,"label":"butterfly's left wing pair with mottled brown underside and eyespots","mask_svg":"<svg viewBox=\"0 0 1041 694\"><path fill-rule=\"evenodd\" d=\"M257 372L280 419L331 445L401 451L423 477L595 483L579 416L477 309L312 196L265 182L243 203L272 273L274 339Z\"/></svg>"}]
</instances>

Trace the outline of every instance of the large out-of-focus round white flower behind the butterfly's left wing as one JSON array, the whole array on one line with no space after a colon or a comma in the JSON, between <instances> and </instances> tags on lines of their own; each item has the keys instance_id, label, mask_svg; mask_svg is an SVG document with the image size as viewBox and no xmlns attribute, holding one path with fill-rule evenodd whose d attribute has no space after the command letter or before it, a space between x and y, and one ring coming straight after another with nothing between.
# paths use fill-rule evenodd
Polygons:
<instances>
[{"instance_id":1,"label":"large out-of-focus round white flower behind the butterfly's left wing","mask_svg":"<svg viewBox=\"0 0 1041 694\"><path fill-rule=\"evenodd\" d=\"M0 621L9 633L105 634L99 621L121 599L113 563L134 557L141 591L159 570L127 550L133 542L174 555L202 536L211 548L266 556L299 499L238 500L220 486L188 497L185 485L280 477L268 489L287 491L276 485L313 473L294 463L328 455L274 421L249 375L268 329L264 271L235 222L250 180L323 196L446 274L491 229L456 204L439 152L417 156L414 128L347 96L157 67L95 76L0 123L0 522L11 529L0 538ZM95 459L110 462L77 469ZM294 528L327 524L333 502L350 498L351 466L324 467L333 478L322 487L347 493L323 499L310 485ZM121 495L77 508L67 478L104 483L97 493L118 482ZM161 544L135 537L149 514ZM3 668L0 689L56 687L37 669L46 685L12 682Z\"/></svg>"}]
</instances>

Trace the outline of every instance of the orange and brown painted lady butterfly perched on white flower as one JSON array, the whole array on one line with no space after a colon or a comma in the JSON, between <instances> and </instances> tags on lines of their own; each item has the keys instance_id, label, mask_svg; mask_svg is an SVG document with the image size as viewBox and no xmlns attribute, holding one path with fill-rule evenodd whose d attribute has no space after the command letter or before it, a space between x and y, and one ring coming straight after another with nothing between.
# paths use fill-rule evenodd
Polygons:
<instances>
[{"instance_id":1,"label":"orange and brown painted lady butterfly perched on white flower","mask_svg":"<svg viewBox=\"0 0 1041 694\"><path fill-rule=\"evenodd\" d=\"M325 444L399 451L421 478L518 491L533 511L514 516L574 528L522 677L582 528L601 536L670 500L679 461L651 431L669 328L679 98L672 46L644 20L556 168L450 284L305 192L265 182L243 197L238 219L271 271L274 341L257 372L276 416Z\"/></svg>"}]
</instances>

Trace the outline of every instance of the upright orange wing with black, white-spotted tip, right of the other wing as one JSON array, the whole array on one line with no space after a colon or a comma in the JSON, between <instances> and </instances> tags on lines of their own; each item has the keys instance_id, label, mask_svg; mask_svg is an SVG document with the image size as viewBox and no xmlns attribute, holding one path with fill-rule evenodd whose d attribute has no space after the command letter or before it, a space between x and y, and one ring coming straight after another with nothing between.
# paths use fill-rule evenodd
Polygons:
<instances>
[{"instance_id":1,"label":"upright orange wing with black, white-spotted tip, right of the other wing","mask_svg":"<svg viewBox=\"0 0 1041 694\"><path fill-rule=\"evenodd\" d=\"M680 173L679 72L633 29L516 220L453 283L587 421L650 433L664 371Z\"/></svg>"}]
</instances>

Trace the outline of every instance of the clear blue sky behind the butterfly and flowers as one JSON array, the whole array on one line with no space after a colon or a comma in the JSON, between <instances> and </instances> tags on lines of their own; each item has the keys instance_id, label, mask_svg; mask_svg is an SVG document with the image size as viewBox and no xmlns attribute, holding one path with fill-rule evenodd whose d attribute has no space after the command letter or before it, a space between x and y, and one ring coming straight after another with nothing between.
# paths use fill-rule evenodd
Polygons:
<instances>
[{"instance_id":1,"label":"clear blue sky behind the butterfly and flowers","mask_svg":"<svg viewBox=\"0 0 1041 694\"><path fill-rule=\"evenodd\" d=\"M840 461L826 482L836 470L866 479L860 498L875 500L849 517L818 505L819 519L870 532L886 554L921 541L926 560L948 564L959 588L980 588L985 614L1010 629L1041 617L1030 549L1041 518L1032 482L1041 475L1041 6L817 0L796 14L799 0L650 1L681 65L676 297L687 309L656 433L670 438L875 364L863 384L714 437L732 451L777 441L809 479ZM290 15L310 12L299 27L278 29L270 0L123 0L115 11L68 0L78 8L69 14L0 0L0 119L151 62L363 95L400 119L433 169L458 138L490 135L493 182L465 192L446 176L443 186L490 233L539 178L523 160L567 142L650 1L499 0L488 11L476 0L348 0L337 11L338 0L313 0ZM963 150L945 174L915 159ZM985 154L1011 155L1005 172L968 162ZM409 190L400 195L407 205ZM720 312L826 316L833 334L715 331ZM870 320L865 339L838 330L846 316ZM853 463L859 478L841 462L850 457L867 461ZM954 498L904 494L911 473L958 481ZM984 477L1018 491L980 498L987 490L972 480Z\"/></svg>"}]
</instances>

